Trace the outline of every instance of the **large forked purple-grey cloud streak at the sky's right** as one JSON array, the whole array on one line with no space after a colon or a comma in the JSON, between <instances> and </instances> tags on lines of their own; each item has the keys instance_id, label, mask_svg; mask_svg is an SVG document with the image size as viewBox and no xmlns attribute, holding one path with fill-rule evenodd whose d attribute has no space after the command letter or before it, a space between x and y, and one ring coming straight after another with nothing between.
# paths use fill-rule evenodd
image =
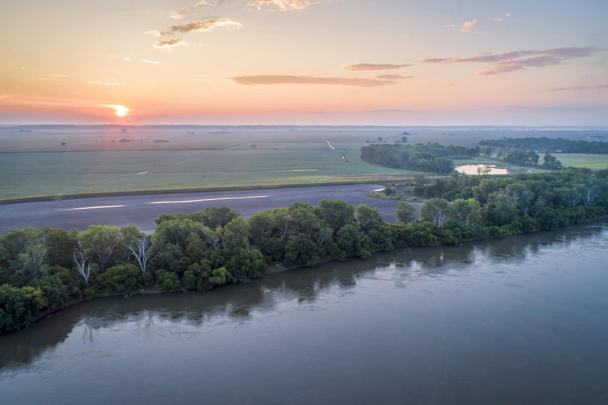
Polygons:
<instances>
[{"instance_id":1,"label":"large forked purple-grey cloud streak at the sky's right","mask_svg":"<svg viewBox=\"0 0 608 405\"><path fill-rule=\"evenodd\" d=\"M453 64L453 63L486 63L492 67L477 75L488 76L499 73L515 72L527 67L556 66L564 61L587 58L599 49L596 47L567 47L544 50L513 50L503 53L480 53L471 58L432 58L424 59L423 63Z\"/></svg>"}]
</instances>

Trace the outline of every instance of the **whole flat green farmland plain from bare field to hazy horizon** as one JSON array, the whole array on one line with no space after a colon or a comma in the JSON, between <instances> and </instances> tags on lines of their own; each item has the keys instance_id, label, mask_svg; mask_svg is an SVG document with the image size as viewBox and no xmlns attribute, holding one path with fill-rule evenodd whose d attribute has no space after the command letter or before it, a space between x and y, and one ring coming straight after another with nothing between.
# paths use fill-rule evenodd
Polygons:
<instances>
[{"instance_id":1,"label":"whole flat green farmland plain from bare field to hazy horizon","mask_svg":"<svg viewBox=\"0 0 608 405\"><path fill-rule=\"evenodd\" d=\"M56 194L375 181L412 172L359 159L370 141L474 146L545 131L241 127L0 128L0 200ZM537 134L543 136L544 133ZM367 141L367 142L366 142ZM63 142L65 145L61 145ZM328 143L329 142L329 143ZM331 145L331 146L330 146ZM332 149L334 148L334 149ZM605 167L598 155L564 165ZM585 160L585 158L587 160ZM348 163L347 163L348 162ZM472 160L469 160L472 162ZM461 162L457 162L461 163ZM475 163L483 163L475 160ZM496 162L488 162L496 163Z\"/></svg>"}]
</instances>

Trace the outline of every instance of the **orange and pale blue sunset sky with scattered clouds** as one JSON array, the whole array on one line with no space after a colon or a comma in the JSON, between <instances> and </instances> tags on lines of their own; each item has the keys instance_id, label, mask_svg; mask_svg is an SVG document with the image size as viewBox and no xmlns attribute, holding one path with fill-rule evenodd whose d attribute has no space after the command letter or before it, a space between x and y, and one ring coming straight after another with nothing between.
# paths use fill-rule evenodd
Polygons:
<instances>
[{"instance_id":1,"label":"orange and pale blue sunset sky with scattered clouds","mask_svg":"<svg viewBox=\"0 0 608 405\"><path fill-rule=\"evenodd\" d=\"M3 0L0 124L608 126L608 1Z\"/></svg>"}]
</instances>

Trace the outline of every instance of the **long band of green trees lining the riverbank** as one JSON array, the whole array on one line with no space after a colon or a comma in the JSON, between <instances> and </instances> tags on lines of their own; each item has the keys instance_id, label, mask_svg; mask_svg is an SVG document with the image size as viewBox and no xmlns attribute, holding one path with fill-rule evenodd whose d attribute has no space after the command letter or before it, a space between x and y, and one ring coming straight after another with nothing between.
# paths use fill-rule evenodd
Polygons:
<instances>
[{"instance_id":1,"label":"long band of green trees lining the riverbank","mask_svg":"<svg viewBox=\"0 0 608 405\"><path fill-rule=\"evenodd\" d=\"M162 214L152 235L134 226L86 231L21 228L0 236L0 332L31 324L71 300L142 288L206 291L265 273L366 258L374 251L551 229L605 215L608 171L588 169L489 179L452 174L413 189L429 198L399 202L399 223L377 208L339 200L294 203L243 219L227 207Z\"/></svg>"}]
</instances>

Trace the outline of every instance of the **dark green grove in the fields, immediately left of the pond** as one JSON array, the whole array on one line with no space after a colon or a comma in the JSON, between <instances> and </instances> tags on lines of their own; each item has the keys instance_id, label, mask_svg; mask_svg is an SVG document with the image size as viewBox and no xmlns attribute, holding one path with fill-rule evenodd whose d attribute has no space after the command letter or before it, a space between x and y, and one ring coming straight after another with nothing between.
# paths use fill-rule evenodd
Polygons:
<instances>
[{"instance_id":1,"label":"dark green grove in the fields, immediately left of the pond","mask_svg":"<svg viewBox=\"0 0 608 405\"><path fill-rule=\"evenodd\" d=\"M476 157L481 153L479 146L466 148L439 143L370 145L361 148L361 159L388 168L448 174L454 171L454 162L449 158Z\"/></svg>"}]
</instances>

